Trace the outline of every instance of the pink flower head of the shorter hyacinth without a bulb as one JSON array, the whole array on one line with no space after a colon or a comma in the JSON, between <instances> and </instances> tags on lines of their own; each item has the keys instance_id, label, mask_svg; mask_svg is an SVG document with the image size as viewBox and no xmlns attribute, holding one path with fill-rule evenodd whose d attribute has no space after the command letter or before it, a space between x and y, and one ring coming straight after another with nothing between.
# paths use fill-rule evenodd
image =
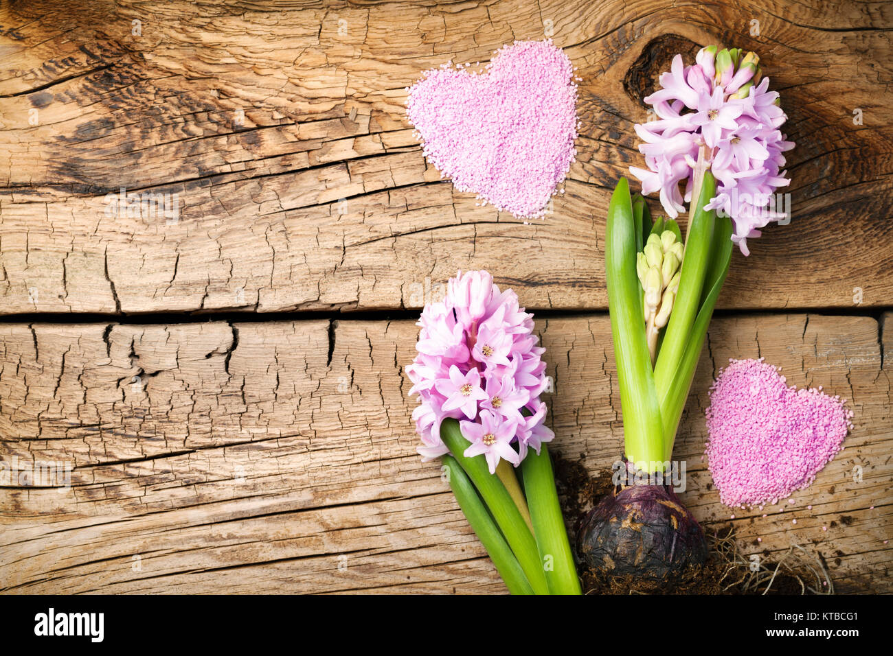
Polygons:
<instances>
[{"instance_id":1,"label":"pink flower head of the shorter hyacinth without a bulb","mask_svg":"<svg viewBox=\"0 0 893 656\"><path fill-rule=\"evenodd\" d=\"M552 440L539 398L548 385L545 349L511 289L500 291L487 271L459 271L446 298L425 305L417 325L418 354L406 374L409 394L421 402L413 420L422 460L449 452L440 439L448 417L472 443L464 455L483 454L491 474L499 461L517 467L528 449L539 453Z\"/></svg>"}]
</instances>

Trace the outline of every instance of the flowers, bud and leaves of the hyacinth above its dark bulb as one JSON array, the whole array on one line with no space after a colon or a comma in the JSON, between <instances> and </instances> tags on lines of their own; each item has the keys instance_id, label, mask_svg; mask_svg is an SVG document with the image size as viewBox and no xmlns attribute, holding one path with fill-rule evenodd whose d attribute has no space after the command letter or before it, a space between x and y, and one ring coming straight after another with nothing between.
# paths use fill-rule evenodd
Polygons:
<instances>
[{"instance_id":1,"label":"flowers, bud and leaves of the hyacinth above its dark bulb","mask_svg":"<svg viewBox=\"0 0 893 656\"><path fill-rule=\"evenodd\" d=\"M676 55L663 88L646 98L659 120L636 126L647 169L630 169L643 194L660 193L671 218L652 220L626 179L608 208L605 273L625 455L652 470L672 457L733 246L748 254L747 237L780 218L766 209L768 196L789 184L780 168L793 144L779 131L785 114L758 62L714 46L688 67ZM675 221L683 212L684 244Z\"/></svg>"}]
</instances>

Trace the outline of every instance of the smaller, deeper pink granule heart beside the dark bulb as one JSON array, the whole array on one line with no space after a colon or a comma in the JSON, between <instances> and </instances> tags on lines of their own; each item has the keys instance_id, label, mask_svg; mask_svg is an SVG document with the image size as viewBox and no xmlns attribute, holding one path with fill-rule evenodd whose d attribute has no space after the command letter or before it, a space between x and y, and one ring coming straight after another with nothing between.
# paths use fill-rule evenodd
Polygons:
<instances>
[{"instance_id":1,"label":"smaller, deeper pink granule heart beside the dark bulb","mask_svg":"<svg viewBox=\"0 0 893 656\"><path fill-rule=\"evenodd\" d=\"M730 360L706 411L705 453L723 503L777 503L834 458L853 412L821 390L787 386L763 358Z\"/></svg>"}]
</instances>

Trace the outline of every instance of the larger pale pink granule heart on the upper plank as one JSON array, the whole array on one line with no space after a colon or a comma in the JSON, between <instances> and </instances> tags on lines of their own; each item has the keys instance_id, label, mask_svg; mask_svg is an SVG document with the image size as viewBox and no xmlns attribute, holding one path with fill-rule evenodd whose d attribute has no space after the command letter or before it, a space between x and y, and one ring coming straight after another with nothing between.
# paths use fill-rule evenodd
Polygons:
<instances>
[{"instance_id":1,"label":"larger pale pink granule heart on the upper plank","mask_svg":"<svg viewBox=\"0 0 893 656\"><path fill-rule=\"evenodd\" d=\"M546 41L497 50L484 72L447 62L408 89L406 114L428 161L459 191L538 217L576 151L571 60Z\"/></svg>"}]
</instances>

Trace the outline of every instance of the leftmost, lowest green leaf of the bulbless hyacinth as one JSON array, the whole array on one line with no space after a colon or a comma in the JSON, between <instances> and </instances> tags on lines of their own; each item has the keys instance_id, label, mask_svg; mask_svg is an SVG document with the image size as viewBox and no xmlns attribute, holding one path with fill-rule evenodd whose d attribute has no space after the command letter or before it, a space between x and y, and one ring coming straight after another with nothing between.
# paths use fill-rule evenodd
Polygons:
<instances>
[{"instance_id":1,"label":"leftmost, lowest green leaf of the bulbless hyacinth","mask_svg":"<svg viewBox=\"0 0 893 656\"><path fill-rule=\"evenodd\" d=\"M468 519L468 523L480 539L480 544L483 544L484 549L487 550L490 560L496 566L499 576L505 581L509 592L533 594L533 588L530 587L530 582L524 576L524 570L518 563L518 559L514 557L509 545L506 544L499 528L490 518L486 506L480 501L480 496L474 489L472 481L469 480L453 456L443 456L442 462L447 468L449 486L453 489L456 501L459 502L459 508L462 509L465 518Z\"/></svg>"}]
</instances>

